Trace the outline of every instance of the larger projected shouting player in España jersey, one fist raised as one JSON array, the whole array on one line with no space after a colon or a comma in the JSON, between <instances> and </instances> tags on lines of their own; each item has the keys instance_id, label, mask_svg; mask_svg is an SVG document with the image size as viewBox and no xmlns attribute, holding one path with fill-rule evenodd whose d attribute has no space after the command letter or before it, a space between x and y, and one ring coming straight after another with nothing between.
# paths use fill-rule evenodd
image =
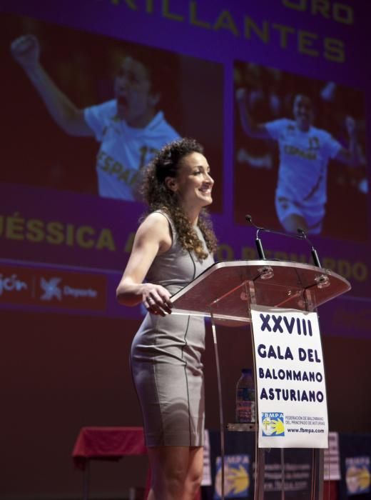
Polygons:
<instances>
[{"instance_id":1,"label":"larger projected shouting player in Espa\u00f1a jersey, one fist raised","mask_svg":"<svg viewBox=\"0 0 371 500\"><path fill-rule=\"evenodd\" d=\"M36 36L24 35L14 40L11 54L63 131L71 136L95 136L101 143L96 161L99 194L136 199L141 168L156 151L178 138L163 112L157 111L160 91L148 59L126 56L116 74L114 99L78 109L41 66Z\"/></svg>"}]
</instances>

